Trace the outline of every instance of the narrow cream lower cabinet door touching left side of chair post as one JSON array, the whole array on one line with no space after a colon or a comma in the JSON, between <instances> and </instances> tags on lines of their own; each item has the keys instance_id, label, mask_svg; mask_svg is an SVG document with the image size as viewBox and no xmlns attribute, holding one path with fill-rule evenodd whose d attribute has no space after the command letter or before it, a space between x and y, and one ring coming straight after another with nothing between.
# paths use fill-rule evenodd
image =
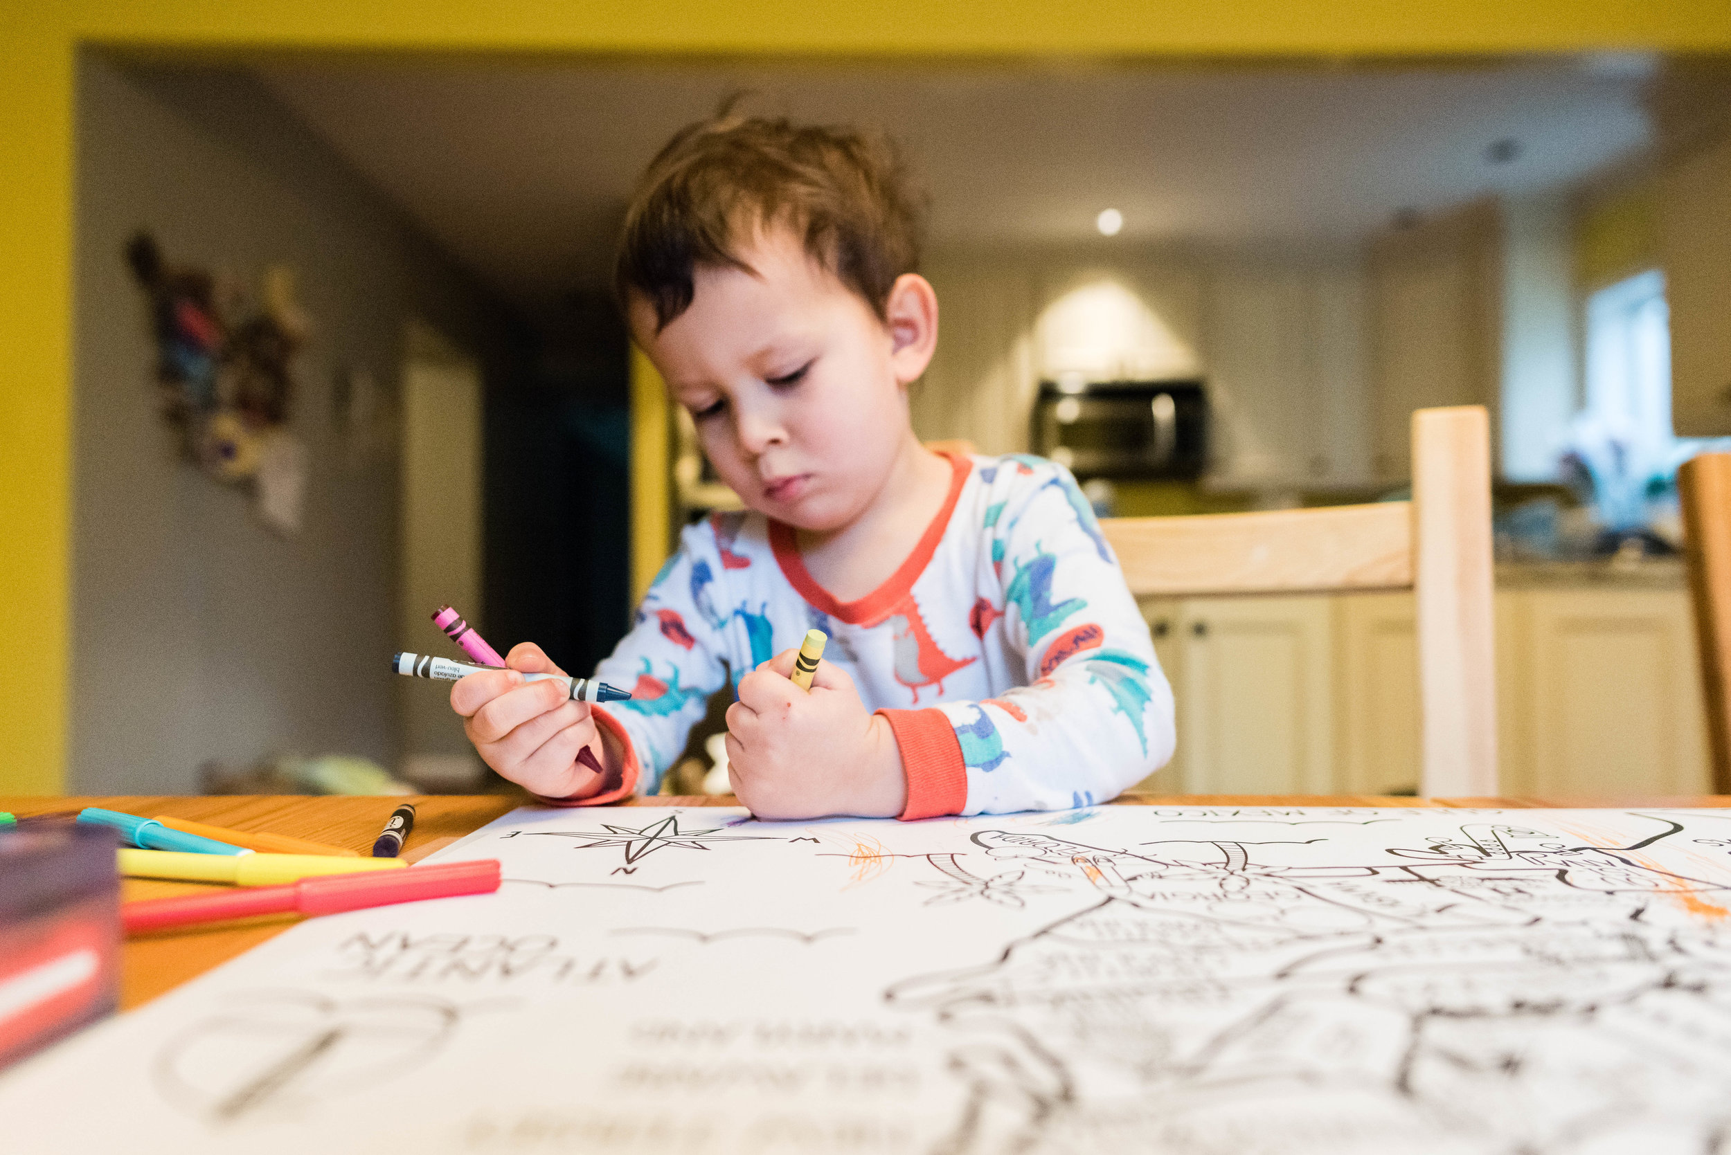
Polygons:
<instances>
[{"instance_id":1,"label":"narrow cream lower cabinet door touching left side of chair post","mask_svg":"<svg viewBox=\"0 0 1731 1155\"><path fill-rule=\"evenodd\" d=\"M1340 788L1418 794L1418 629L1411 593L1335 598Z\"/></svg>"}]
</instances>

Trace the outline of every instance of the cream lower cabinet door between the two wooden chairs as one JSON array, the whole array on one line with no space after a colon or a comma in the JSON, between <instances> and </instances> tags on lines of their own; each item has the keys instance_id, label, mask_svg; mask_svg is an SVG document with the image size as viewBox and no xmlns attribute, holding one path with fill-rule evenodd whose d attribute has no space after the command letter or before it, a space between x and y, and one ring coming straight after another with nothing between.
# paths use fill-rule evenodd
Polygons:
<instances>
[{"instance_id":1,"label":"cream lower cabinet door between the two wooden chairs","mask_svg":"<svg viewBox=\"0 0 1731 1155\"><path fill-rule=\"evenodd\" d=\"M1535 792L1708 792L1683 590L1532 591L1525 617Z\"/></svg>"}]
</instances>

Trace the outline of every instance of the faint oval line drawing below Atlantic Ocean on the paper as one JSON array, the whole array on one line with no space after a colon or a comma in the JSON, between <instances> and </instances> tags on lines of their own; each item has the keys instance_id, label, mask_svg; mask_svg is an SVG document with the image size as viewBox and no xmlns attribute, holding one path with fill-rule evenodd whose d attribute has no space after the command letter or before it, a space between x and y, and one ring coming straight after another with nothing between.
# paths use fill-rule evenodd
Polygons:
<instances>
[{"instance_id":1,"label":"faint oval line drawing below Atlantic Ocean on the paper","mask_svg":"<svg viewBox=\"0 0 1731 1155\"><path fill-rule=\"evenodd\" d=\"M433 1058L460 1018L454 1003L428 996L246 991L225 1003L152 1065L163 1098L213 1124L377 1088Z\"/></svg>"}]
</instances>

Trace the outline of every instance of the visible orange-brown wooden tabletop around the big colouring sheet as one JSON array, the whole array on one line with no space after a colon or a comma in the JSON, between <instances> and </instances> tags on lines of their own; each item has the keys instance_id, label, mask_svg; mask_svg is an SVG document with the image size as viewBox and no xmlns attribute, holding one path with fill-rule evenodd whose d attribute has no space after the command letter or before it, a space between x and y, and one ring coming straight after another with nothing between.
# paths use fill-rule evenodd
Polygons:
<instances>
[{"instance_id":1,"label":"visible orange-brown wooden tabletop around the big colouring sheet","mask_svg":"<svg viewBox=\"0 0 1731 1155\"><path fill-rule=\"evenodd\" d=\"M426 795L426 797L303 797L303 795L121 795L121 797L0 797L0 811L45 814L85 806L125 811L128 814L168 814L228 826L232 830L268 830L296 839L344 846L362 854L384 820L402 802L415 804L415 828L403 846L405 858L415 858L431 842L441 842L478 830L495 818L528 802L524 794ZM1468 806L1525 809L1535 806L1676 806L1731 807L1731 795L1703 797L1627 797L1627 799L1411 799L1373 795L1125 795L1118 806ZM647 797L625 806L737 806L722 797ZM163 897L206 889L196 882L161 882L123 878L121 899ZM187 979L248 951L265 939L282 934L298 922L293 915L249 918L213 927L185 927L126 941L121 970L121 1010L149 1003Z\"/></svg>"}]
</instances>

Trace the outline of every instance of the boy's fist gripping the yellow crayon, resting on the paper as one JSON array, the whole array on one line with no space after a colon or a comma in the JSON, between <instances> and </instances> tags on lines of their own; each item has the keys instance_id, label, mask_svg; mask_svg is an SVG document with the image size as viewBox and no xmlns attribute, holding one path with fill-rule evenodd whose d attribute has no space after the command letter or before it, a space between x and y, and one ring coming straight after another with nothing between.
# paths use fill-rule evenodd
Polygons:
<instances>
[{"instance_id":1,"label":"boy's fist gripping the yellow crayon, resting on the paper","mask_svg":"<svg viewBox=\"0 0 1731 1155\"><path fill-rule=\"evenodd\" d=\"M907 806L890 723L866 711L853 680L819 662L810 692L793 685L798 650L739 680L727 707L727 775L758 818L895 818Z\"/></svg>"}]
</instances>

